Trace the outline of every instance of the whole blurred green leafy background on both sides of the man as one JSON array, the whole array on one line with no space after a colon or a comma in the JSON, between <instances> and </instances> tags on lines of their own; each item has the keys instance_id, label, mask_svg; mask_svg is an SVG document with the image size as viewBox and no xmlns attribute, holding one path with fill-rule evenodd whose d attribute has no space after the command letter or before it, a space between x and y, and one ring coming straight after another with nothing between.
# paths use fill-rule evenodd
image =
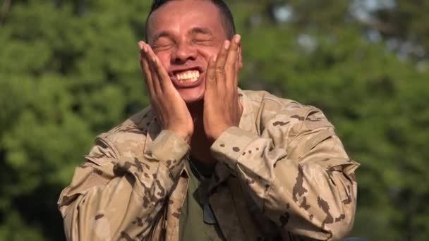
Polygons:
<instances>
[{"instance_id":1,"label":"whole blurred green leafy background on both sides of the man","mask_svg":"<svg viewBox=\"0 0 429 241\"><path fill-rule=\"evenodd\" d=\"M429 239L429 1L228 1L240 85L324 110L361 163L352 236ZM148 0L0 1L0 240L64 240L56 199L147 106Z\"/></svg>"}]
</instances>

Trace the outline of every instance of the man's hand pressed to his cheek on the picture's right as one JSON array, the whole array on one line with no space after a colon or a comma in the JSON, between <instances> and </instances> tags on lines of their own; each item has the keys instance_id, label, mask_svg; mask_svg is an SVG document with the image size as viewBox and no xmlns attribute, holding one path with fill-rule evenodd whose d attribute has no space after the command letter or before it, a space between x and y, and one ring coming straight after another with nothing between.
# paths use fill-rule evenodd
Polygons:
<instances>
[{"instance_id":1,"label":"man's hand pressed to his cheek on the picture's right","mask_svg":"<svg viewBox=\"0 0 429 241\"><path fill-rule=\"evenodd\" d=\"M216 140L224 130L238 126L242 106L238 101L240 35L226 40L217 58L211 58L205 77L204 130Z\"/></svg>"}]
</instances>

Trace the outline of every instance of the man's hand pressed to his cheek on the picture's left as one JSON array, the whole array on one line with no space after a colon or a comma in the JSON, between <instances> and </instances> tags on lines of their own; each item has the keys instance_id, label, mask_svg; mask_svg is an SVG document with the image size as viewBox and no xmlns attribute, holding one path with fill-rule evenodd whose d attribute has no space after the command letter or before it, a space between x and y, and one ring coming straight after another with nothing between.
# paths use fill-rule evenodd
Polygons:
<instances>
[{"instance_id":1,"label":"man's hand pressed to his cheek on the picture's left","mask_svg":"<svg viewBox=\"0 0 429 241\"><path fill-rule=\"evenodd\" d=\"M138 42L140 47L140 66L145 75L147 90L159 123L163 130L171 130L191 142L193 121L185 101L171 82L149 44Z\"/></svg>"}]
</instances>

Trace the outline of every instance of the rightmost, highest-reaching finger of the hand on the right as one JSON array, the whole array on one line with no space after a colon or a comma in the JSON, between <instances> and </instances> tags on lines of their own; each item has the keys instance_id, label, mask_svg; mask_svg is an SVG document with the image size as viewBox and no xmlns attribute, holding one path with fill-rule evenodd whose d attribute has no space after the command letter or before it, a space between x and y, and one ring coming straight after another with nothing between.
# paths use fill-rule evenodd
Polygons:
<instances>
[{"instance_id":1,"label":"rightmost, highest-reaching finger of the hand on the right","mask_svg":"<svg viewBox=\"0 0 429 241\"><path fill-rule=\"evenodd\" d=\"M228 49L225 63L225 82L228 87L236 87L236 70L238 61L238 48L240 44L240 35L234 35L231 46Z\"/></svg>"}]
</instances>

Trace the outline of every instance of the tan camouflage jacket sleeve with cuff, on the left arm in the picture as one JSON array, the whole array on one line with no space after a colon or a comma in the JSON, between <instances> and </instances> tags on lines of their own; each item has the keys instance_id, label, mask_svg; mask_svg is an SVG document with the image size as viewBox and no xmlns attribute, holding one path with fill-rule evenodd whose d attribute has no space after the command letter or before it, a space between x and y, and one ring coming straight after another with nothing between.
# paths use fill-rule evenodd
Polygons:
<instances>
[{"instance_id":1,"label":"tan camouflage jacket sleeve with cuff, on the left arm in the picture","mask_svg":"<svg viewBox=\"0 0 429 241\"><path fill-rule=\"evenodd\" d=\"M149 148L148 156L129 158L97 138L59 197L67 240L140 240L150 233L189 146L163 130Z\"/></svg>"}]
</instances>

